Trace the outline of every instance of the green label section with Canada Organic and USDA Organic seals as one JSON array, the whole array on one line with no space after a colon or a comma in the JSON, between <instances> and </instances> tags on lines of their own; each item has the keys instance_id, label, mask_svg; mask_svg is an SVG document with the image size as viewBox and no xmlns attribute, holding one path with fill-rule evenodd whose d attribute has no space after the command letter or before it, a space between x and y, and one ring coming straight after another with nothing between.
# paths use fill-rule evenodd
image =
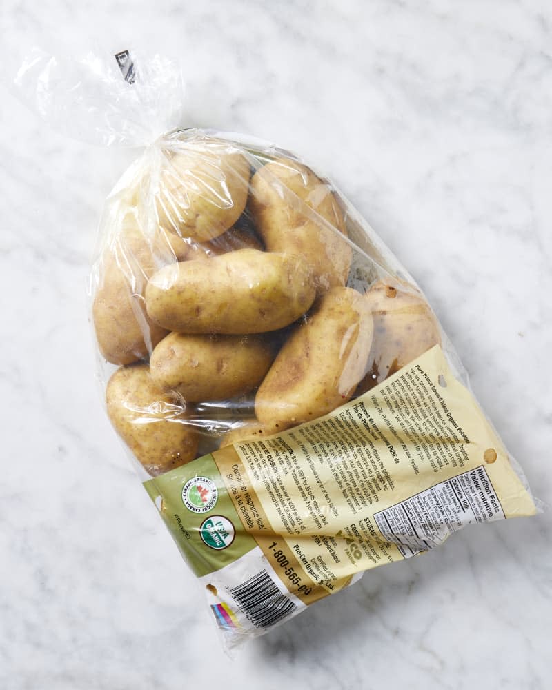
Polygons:
<instances>
[{"instance_id":1,"label":"green label section with Canada Organic and USDA Organic seals","mask_svg":"<svg viewBox=\"0 0 552 690\"><path fill-rule=\"evenodd\" d=\"M244 530L212 455L144 486L197 577L224 568L257 546Z\"/></svg>"}]
</instances>

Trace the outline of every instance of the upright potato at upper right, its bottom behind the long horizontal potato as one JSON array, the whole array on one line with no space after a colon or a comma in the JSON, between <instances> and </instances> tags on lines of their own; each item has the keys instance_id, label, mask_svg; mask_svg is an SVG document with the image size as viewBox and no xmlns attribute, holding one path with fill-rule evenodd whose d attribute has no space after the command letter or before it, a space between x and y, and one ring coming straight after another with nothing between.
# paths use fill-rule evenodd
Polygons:
<instances>
[{"instance_id":1,"label":"upright potato at upper right, its bottom behind the long horizontal potato","mask_svg":"<svg viewBox=\"0 0 552 690\"><path fill-rule=\"evenodd\" d=\"M346 283L352 252L343 214L312 170L286 158L266 164L251 179L250 210L266 250L304 257L319 293Z\"/></svg>"}]
</instances>

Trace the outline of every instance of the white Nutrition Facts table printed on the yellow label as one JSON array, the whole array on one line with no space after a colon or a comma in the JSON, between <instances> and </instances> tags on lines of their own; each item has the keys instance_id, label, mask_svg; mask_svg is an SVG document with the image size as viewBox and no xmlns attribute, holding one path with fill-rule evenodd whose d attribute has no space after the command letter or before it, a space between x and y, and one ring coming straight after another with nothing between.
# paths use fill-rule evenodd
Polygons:
<instances>
[{"instance_id":1,"label":"white Nutrition Facts table printed on the yellow label","mask_svg":"<svg viewBox=\"0 0 552 690\"><path fill-rule=\"evenodd\" d=\"M466 524L503 517L482 465L374 514L384 539L397 544L404 558L433 549Z\"/></svg>"}]
</instances>

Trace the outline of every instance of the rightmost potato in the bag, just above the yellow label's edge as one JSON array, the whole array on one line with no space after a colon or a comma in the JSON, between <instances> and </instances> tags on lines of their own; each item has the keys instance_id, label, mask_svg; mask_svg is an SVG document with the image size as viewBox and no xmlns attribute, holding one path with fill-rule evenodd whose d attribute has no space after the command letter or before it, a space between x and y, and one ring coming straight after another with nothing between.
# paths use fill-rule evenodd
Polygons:
<instances>
[{"instance_id":1,"label":"rightmost potato in the bag, just above the yellow label's edge","mask_svg":"<svg viewBox=\"0 0 552 690\"><path fill-rule=\"evenodd\" d=\"M357 395L441 342L437 319L415 286L380 280L371 286L365 299L374 319L374 337L368 370Z\"/></svg>"}]
</instances>

